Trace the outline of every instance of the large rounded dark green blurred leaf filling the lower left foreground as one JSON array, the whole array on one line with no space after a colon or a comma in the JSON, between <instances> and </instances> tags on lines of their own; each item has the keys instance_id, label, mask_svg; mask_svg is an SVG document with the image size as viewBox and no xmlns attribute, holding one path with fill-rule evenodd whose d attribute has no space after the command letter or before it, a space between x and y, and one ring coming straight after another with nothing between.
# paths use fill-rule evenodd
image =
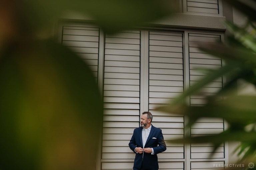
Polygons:
<instances>
[{"instance_id":1,"label":"large rounded dark green blurred leaf filling the lower left foreground","mask_svg":"<svg viewBox=\"0 0 256 170\"><path fill-rule=\"evenodd\" d=\"M102 99L84 62L21 40L2 53L0 81L1 169L94 169Z\"/></svg>"}]
</instances>

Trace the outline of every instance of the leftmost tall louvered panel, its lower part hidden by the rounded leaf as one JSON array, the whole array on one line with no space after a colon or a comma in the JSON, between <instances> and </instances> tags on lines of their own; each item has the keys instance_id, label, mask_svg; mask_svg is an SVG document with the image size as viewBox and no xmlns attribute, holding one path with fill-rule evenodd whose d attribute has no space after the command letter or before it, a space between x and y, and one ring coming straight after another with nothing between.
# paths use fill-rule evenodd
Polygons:
<instances>
[{"instance_id":1,"label":"leftmost tall louvered panel, its lower part hidden by the rounded leaf","mask_svg":"<svg viewBox=\"0 0 256 170\"><path fill-rule=\"evenodd\" d=\"M98 78L99 28L93 25L65 24L62 27L62 44L77 53Z\"/></svg>"}]
</instances>

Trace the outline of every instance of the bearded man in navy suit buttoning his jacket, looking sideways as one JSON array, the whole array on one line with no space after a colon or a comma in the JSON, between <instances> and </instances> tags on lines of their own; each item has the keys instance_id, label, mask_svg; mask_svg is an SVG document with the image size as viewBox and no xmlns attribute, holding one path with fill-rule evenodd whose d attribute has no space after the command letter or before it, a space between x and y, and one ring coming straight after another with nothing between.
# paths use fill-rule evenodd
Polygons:
<instances>
[{"instance_id":1,"label":"bearded man in navy suit buttoning his jacket, looking sideways","mask_svg":"<svg viewBox=\"0 0 256 170\"><path fill-rule=\"evenodd\" d=\"M157 154L166 150L162 130L151 125L153 116L143 112L140 118L141 127L134 129L129 143L136 153L133 170L158 170Z\"/></svg>"}]
</instances>

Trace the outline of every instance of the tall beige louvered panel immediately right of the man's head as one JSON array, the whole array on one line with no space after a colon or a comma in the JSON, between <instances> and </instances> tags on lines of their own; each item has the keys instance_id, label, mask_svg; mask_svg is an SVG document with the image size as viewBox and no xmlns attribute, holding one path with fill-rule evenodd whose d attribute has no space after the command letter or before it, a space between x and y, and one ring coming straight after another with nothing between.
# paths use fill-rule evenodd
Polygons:
<instances>
[{"instance_id":1,"label":"tall beige louvered panel immediately right of the man's head","mask_svg":"<svg viewBox=\"0 0 256 170\"><path fill-rule=\"evenodd\" d=\"M158 155L159 159L184 158L184 145L168 142L183 137L184 117L154 110L156 106L167 104L170 98L183 93L182 36L181 33L149 32L149 111L153 114L152 125L162 129L167 144L166 151ZM183 169L183 163L177 168Z\"/></svg>"}]
</instances>

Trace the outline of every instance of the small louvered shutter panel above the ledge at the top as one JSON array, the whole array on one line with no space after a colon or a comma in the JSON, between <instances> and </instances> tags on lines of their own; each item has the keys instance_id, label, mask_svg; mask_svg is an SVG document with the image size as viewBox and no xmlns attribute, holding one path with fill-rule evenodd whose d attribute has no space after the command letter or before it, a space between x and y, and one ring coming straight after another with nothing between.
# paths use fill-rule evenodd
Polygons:
<instances>
[{"instance_id":1,"label":"small louvered shutter panel above the ledge at the top","mask_svg":"<svg viewBox=\"0 0 256 170\"><path fill-rule=\"evenodd\" d=\"M188 12L219 14L218 0L187 0Z\"/></svg>"}]
</instances>

